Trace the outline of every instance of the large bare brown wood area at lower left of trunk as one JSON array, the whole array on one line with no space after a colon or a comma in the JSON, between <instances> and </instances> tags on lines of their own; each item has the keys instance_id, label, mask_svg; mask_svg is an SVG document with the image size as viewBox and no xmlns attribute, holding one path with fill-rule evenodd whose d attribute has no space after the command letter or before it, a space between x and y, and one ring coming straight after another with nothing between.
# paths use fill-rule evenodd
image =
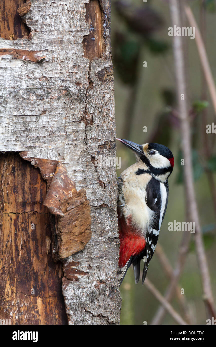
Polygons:
<instances>
[{"instance_id":1,"label":"large bare brown wood area at lower left of trunk","mask_svg":"<svg viewBox=\"0 0 216 347\"><path fill-rule=\"evenodd\" d=\"M18 153L1 153L0 168L0 317L11 324L66 324L62 263L52 259L43 205L46 182Z\"/></svg>"}]
</instances>

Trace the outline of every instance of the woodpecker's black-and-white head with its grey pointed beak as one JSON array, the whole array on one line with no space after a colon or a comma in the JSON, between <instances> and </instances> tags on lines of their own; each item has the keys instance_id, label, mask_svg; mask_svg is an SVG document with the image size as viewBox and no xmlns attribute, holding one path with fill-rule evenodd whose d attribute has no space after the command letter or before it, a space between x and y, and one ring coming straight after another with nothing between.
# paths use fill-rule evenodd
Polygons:
<instances>
[{"instance_id":1,"label":"woodpecker's black-and-white head with its grey pointed beak","mask_svg":"<svg viewBox=\"0 0 216 347\"><path fill-rule=\"evenodd\" d=\"M174 158L168 147L158 143L145 143L143 145L138 145L135 142L122 138L117 138L117 140L121 141L124 145L135 152L138 163L144 163L145 166L147 166L146 170L140 168L136 172L137 175L148 172L161 182L165 182L170 176L174 166Z\"/></svg>"}]
</instances>

